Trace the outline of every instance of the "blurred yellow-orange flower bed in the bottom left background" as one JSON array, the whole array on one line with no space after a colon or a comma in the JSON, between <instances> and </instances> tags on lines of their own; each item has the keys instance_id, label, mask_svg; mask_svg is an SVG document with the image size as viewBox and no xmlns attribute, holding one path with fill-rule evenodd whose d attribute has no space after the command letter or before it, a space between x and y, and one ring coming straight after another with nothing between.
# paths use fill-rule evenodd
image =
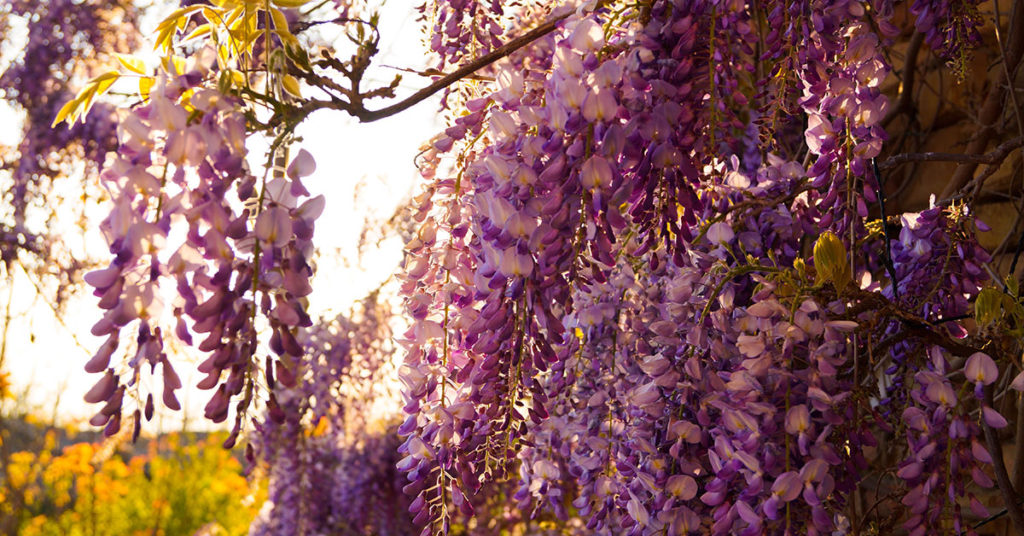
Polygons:
<instances>
[{"instance_id":1,"label":"blurred yellow-orange flower bed in the bottom left background","mask_svg":"<svg viewBox=\"0 0 1024 536\"><path fill-rule=\"evenodd\" d=\"M246 534L266 495L265 479L247 481L234 453L219 448L223 434L135 446L92 439L27 415L4 418L0 534Z\"/></svg>"}]
</instances>

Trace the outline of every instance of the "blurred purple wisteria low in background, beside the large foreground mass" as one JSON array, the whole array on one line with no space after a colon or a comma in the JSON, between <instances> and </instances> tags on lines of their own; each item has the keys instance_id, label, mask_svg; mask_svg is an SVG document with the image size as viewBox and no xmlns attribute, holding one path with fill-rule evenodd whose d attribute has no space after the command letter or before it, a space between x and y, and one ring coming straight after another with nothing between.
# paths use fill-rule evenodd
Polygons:
<instances>
[{"instance_id":1,"label":"blurred purple wisteria low in background, beside the large foreground mass","mask_svg":"<svg viewBox=\"0 0 1024 536\"><path fill-rule=\"evenodd\" d=\"M390 312L376 298L303 332L295 377L270 385L250 451L269 472L269 493L251 534L418 532L395 468L394 415L380 411L394 346Z\"/></svg>"}]
</instances>

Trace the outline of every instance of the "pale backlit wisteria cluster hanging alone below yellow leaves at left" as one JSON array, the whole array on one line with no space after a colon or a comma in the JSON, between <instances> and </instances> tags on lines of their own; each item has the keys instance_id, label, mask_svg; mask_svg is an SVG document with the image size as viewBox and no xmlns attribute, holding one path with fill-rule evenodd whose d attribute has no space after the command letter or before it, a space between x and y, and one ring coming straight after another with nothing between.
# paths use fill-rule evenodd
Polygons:
<instances>
[{"instance_id":1,"label":"pale backlit wisteria cluster hanging alone below yellow leaves at left","mask_svg":"<svg viewBox=\"0 0 1024 536\"><path fill-rule=\"evenodd\" d=\"M117 200L103 223L114 259L86 282L106 311L93 334L109 340L87 370L108 369L117 380L116 388L90 400L106 401L93 423L106 423L109 434L118 428L125 389L142 395L145 365L151 373L163 367L162 400L179 408L174 393L180 381L164 351L173 331L185 344L202 334L195 342L208 356L199 366L207 377L199 387L216 389L207 418L223 421L230 399L240 397L228 440L233 443L253 399L257 315L266 318L270 349L282 357L279 377L287 377L291 360L302 355L296 330L310 325L304 312L311 290L310 239L324 199L299 199L308 195L300 178L312 172L312 159L300 152L287 174L257 187L245 160L246 121L239 104L204 85L211 54L203 49L183 72L172 67L158 77L147 104L122 123L121 151L103 171ZM171 240L175 243L168 244ZM172 285L175 325L168 329L163 310ZM124 366L110 367L129 326L137 334L135 347L128 348L134 355ZM150 395L147 418L152 408ZM139 423L139 410L135 413Z\"/></svg>"}]
</instances>

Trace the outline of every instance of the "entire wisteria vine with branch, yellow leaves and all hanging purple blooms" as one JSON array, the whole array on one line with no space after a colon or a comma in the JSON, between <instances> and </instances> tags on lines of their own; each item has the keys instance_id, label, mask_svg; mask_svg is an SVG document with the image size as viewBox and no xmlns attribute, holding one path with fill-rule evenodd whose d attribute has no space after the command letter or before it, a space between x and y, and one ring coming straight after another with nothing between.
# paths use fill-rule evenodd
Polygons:
<instances>
[{"instance_id":1,"label":"entire wisteria vine with branch, yellow leaves and all hanging purple blooms","mask_svg":"<svg viewBox=\"0 0 1024 536\"><path fill-rule=\"evenodd\" d=\"M123 56L58 112L20 102L57 123L116 118L99 174L110 258L85 276L106 337L86 365L94 425L137 435L158 402L176 409L167 348L188 344L206 416L233 418L226 445L246 441L270 467L258 534L970 533L996 504L1024 529L1022 449L1012 479L1000 448L1024 388L1017 222L983 246L978 213L1024 142L1006 90L1024 9L421 12L433 83L389 106L373 104L397 79L365 80L378 14L302 0L182 2L157 27L155 72ZM351 49L304 35L323 24ZM980 111L958 111L980 123L967 152L907 149L929 135L918 88L967 87L989 37L995 80ZM86 116L126 75L135 101ZM302 183L315 163L296 126L323 110L373 121L438 91L449 126L418 158L402 215L408 329L392 345L376 297L314 322L329 201ZM105 147L108 130L75 128ZM260 137L257 165L246 141ZM932 200L887 207L906 187L887 177L932 161L958 164L923 182ZM395 363L396 431L352 413Z\"/></svg>"}]
</instances>

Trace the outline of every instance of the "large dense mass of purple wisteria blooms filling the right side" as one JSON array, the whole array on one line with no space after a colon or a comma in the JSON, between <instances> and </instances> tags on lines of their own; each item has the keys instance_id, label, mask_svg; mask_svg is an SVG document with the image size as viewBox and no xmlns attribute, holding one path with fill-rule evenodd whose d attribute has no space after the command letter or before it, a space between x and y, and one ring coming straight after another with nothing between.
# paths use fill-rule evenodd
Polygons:
<instances>
[{"instance_id":1,"label":"large dense mass of purple wisteria blooms filling the right side","mask_svg":"<svg viewBox=\"0 0 1024 536\"><path fill-rule=\"evenodd\" d=\"M892 38L868 14L885 8L655 2L614 26L599 7L496 71L435 143L463 163L429 167L409 245L399 467L421 521L443 531L481 482L514 476L522 508L588 534L843 533L879 461L864 452L907 426L904 528L982 514L983 404L945 378L987 385L994 365L964 364L955 322L907 336L896 310L963 318L987 256L963 207L906 215L891 244L865 224ZM766 39L769 72L799 66L770 99L745 78L760 19L801 36ZM758 98L806 114L805 163L759 149ZM873 346L901 335L877 376Z\"/></svg>"}]
</instances>

